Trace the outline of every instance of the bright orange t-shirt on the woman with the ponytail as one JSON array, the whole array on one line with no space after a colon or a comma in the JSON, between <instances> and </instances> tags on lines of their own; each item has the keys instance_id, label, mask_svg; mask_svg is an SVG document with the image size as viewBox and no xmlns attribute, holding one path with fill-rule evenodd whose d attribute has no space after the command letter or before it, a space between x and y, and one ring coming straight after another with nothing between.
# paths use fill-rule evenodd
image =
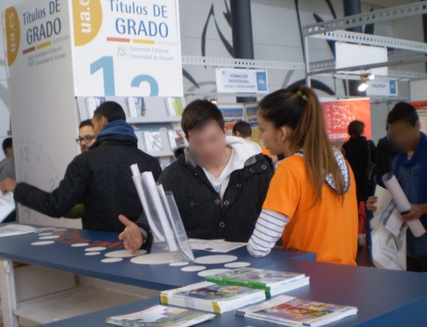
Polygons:
<instances>
[{"instance_id":1,"label":"bright orange t-shirt on the woman with the ponytail","mask_svg":"<svg viewBox=\"0 0 427 327\"><path fill-rule=\"evenodd\" d=\"M356 182L350 167L349 172L350 186L342 202L339 194L324 183L322 198L315 203L304 159L290 156L280 163L263 209L290 218L282 236L285 249L315 252L317 260L322 262L356 265Z\"/></svg>"}]
</instances>

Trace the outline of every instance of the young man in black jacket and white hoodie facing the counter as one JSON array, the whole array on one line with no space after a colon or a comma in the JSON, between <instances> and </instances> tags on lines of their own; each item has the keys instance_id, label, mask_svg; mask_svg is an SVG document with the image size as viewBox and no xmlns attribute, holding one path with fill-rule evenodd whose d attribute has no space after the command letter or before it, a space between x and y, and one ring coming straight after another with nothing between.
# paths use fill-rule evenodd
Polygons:
<instances>
[{"instance_id":1,"label":"young man in black jacket and white hoodie facing the counter","mask_svg":"<svg viewBox=\"0 0 427 327\"><path fill-rule=\"evenodd\" d=\"M181 127L189 147L176 149L159 183L174 194L186 234L248 242L273 176L260 146L227 136L221 111L206 100L184 109ZM132 253L144 239L135 224L120 237Z\"/></svg>"}]
</instances>

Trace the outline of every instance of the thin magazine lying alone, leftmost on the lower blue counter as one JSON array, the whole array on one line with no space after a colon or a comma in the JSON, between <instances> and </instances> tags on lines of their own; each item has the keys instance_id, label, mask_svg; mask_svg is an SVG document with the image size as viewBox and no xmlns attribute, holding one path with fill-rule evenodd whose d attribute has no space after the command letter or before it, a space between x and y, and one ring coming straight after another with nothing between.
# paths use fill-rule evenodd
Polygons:
<instances>
[{"instance_id":1,"label":"thin magazine lying alone, leftmost on the lower blue counter","mask_svg":"<svg viewBox=\"0 0 427 327\"><path fill-rule=\"evenodd\" d=\"M121 316L110 316L105 320L116 326L157 326L157 327L186 327L194 326L214 318L211 313L197 312L173 306L150 306L147 309L123 314Z\"/></svg>"}]
</instances>

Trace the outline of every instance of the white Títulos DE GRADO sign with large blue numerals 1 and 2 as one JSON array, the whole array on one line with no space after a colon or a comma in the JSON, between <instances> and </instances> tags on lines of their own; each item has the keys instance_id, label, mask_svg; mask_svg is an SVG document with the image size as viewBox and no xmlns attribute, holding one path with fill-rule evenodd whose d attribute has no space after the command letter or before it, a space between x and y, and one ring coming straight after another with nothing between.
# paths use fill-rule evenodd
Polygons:
<instances>
[{"instance_id":1,"label":"white T\u00edtulos DE GRADO sign with large blue numerals 1 and 2","mask_svg":"<svg viewBox=\"0 0 427 327\"><path fill-rule=\"evenodd\" d=\"M70 1L75 95L183 95L178 0Z\"/></svg>"}]
</instances>

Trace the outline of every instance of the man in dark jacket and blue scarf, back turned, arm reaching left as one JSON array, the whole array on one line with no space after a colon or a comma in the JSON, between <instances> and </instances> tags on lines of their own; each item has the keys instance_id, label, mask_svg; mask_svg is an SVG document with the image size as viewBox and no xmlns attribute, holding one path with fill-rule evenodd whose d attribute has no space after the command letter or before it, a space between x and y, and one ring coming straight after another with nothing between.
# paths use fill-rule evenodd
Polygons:
<instances>
[{"instance_id":1,"label":"man in dark jacket and blue scarf, back turned, arm reaching left","mask_svg":"<svg viewBox=\"0 0 427 327\"><path fill-rule=\"evenodd\" d=\"M104 102L95 110L95 144L71 161L53 192L10 178L0 182L1 191L14 192L17 202L51 217L65 215L83 200L88 230L121 232L120 214L135 221L142 212L130 166L138 164L140 171L152 171L154 178L161 173L157 159L137 148L137 136L125 119L116 102Z\"/></svg>"}]
</instances>

